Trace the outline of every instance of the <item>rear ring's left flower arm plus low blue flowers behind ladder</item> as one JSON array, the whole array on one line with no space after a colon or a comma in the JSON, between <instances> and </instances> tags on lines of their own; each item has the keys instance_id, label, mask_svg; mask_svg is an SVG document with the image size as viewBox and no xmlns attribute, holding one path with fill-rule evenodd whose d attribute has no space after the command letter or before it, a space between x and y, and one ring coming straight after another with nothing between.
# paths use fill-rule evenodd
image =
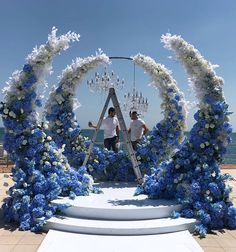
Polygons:
<instances>
[{"instance_id":1,"label":"rear ring's left flower arm plus low blue flowers behind ladder","mask_svg":"<svg viewBox=\"0 0 236 252\"><path fill-rule=\"evenodd\" d=\"M96 56L77 58L63 71L58 87L52 90L45 106L48 133L58 147L63 147L63 154L68 158L70 165L77 169L83 163L90 141L82 136L75 118L74 109L78 104L75 89L90 70L99 64L108 63L109 58L101 50ZM123 151L114 153L95 146L87 167L97 181L135 180L132 164L127 153Z\"/></svg>"}]
</instances>

